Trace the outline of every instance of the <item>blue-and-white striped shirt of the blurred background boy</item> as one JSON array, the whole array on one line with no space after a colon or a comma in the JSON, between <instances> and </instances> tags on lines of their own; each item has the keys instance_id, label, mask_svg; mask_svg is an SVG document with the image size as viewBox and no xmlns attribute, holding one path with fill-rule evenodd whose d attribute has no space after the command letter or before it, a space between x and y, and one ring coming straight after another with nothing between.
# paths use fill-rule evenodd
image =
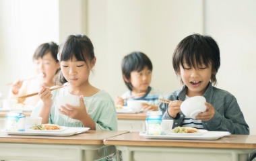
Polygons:
<instances>
[{"instance_id":1,"label":"blue-and-white striped shirt of the blurred background boy","mask_svg":"<svg viewBox=\"0 0 256 161\"><path fill-rule=\"evenodd\" d=\"M158 98L162 98L162 94L163 94L162 90L148 87L147 93L142 97L125 99L125 106L127 106L128 100L144 100L144 101L147 101L148 105L159 105L160 102ZM129 96L131 96L131 91L127 91L121 97L125 98Z\"/></svg>"}]
</instances>

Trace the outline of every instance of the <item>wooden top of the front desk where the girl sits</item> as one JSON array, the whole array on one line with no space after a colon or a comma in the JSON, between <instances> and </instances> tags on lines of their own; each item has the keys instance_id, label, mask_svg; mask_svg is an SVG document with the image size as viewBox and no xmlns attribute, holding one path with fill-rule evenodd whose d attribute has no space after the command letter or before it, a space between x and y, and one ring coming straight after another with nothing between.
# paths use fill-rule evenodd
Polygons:
<instances>
[{"instance_id":1,"label":"wooden top of the front desk where the girl sits","mask_svg":"<svg viewBox=\"0 0 256 161\"><path fill-rule=\"evenodd\" d=\"M106 138L128 132L89 130L74 136L13 136L0 131L0 143L101 145Z\"/></svg>"}]
</instances>

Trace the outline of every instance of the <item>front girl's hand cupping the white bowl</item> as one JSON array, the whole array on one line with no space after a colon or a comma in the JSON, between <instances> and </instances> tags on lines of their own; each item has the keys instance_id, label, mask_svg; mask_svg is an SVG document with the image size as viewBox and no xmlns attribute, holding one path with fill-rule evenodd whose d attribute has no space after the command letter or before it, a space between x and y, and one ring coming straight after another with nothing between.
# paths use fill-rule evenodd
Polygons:
<instances>
[{"instance_id":1,"label":"front girl's hand cupping the white bowl","mask_svg":"<svg viewBox=\"0 0 256 161\"><path fill-rule=\"evenodd\" d=\"M78 119L81 121L82 119L86 119L86 116L88 115L86 111L86 106L84 105L84 99L82 96L79 97L80 105L77 107L66 104L65 108L61 106L61 109L59 109L59 113L62 113L63 115L67 115L68 117L72 119Z\"/></svg>"}]
</instances>

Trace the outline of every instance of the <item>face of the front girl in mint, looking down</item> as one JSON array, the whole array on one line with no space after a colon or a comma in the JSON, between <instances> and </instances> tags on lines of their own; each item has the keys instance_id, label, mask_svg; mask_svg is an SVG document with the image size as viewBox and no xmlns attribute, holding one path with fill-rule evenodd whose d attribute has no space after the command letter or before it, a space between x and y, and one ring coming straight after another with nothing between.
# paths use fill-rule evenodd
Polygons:
<instances>
[{"instance_id":1,"label":"face of the front girl in mint, looking down","mask_svg":"<svg viewBox=\"0 0 256 161\"><path fill-rule=\"evenodd\" d=\"M94 67L96 58L87 66L84 61L77 61L75 58L68 61L61 61L63 76L74 87L88 83L90 70Z\"/></svg>"}]
</instances>

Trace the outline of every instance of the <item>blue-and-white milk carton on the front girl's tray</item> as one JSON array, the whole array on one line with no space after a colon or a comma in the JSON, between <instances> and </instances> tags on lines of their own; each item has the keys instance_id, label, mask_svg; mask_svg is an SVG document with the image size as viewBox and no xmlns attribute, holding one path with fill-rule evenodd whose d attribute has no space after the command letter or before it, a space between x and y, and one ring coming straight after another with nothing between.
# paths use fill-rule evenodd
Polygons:
<instances>
[{"instance_id":1,"label":"blue-and-white milk carton on the front girl's tray","mask_svg":"<svg viewBox=\"0 0 256 161\"><path fill-rule=\"evenodd\" d=\"M25 131L24 113L11 111L6 115L6 131Z\"/></svg>"}]
</instances>

